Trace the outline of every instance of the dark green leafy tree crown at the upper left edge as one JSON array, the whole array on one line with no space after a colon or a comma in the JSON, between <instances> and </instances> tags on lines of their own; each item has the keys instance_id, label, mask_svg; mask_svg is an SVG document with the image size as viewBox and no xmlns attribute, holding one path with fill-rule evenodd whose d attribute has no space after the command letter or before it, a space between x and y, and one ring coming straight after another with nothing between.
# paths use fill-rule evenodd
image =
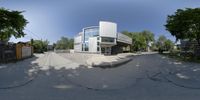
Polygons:
<instances>
[{"instance_id":1,"label":"dark green leafy tree crown at the upper left edge","mask_svg":"<svg viewBox=\"0 0 200 100\"><path fill-rule=\"evenodd\" d=\"M11 36L20 38L25 35L23 30L28 22L22 13L0 8L0 41L6 42Z\"/></svg>"}]
</instances>

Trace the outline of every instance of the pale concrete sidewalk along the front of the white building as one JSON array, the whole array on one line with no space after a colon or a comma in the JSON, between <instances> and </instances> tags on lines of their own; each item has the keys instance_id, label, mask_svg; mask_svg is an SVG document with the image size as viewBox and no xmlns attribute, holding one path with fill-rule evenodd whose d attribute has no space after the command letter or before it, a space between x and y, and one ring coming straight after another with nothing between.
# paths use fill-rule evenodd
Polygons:
<instances>
[{"instance_id":1,"label":"pale concrete sidewalk along the front of the white building","mask_svg":"<svg viewBox=\"0 0 200 100\"><path fill-rule=\"evenodd\" d=\"M115 67L131 60L131 57L146 54L155 54L157 52L140 53L120 53L117 55L101 55L89 53L57 53L58 55L76 62L80 65L92 67Z\"/></svg>"}]
</instances>

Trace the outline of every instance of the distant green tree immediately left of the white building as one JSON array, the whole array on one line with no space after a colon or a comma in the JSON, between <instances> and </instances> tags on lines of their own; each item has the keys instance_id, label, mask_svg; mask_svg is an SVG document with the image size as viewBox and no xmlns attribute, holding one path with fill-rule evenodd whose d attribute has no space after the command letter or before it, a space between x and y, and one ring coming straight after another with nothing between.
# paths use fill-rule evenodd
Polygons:
<instances>
[{"instance_id":1,"label":"distant green tree immediately left of the white building","mask_svg":"<svg viewBox=\"0 0 200 100\"><path fill-rule=\"evenodd\" d=\"M56 49L73 49L74 48L74 39L69 39L67 37L61 37L60 40L57 41Z\"/></svg>"}]
</instances>

